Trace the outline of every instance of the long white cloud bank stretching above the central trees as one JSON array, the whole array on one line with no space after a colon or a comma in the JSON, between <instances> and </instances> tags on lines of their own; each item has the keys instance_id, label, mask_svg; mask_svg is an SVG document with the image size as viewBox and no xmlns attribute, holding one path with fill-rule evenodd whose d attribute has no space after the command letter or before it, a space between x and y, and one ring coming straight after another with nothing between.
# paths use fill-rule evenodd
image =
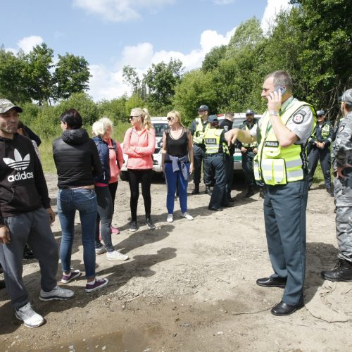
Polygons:
<instances>
[{"instance_id":1,"label":"long white cloud bank stretching above the central trees","mask_svg":"<svg viewBox=\"0 0 352 352\"><path fill-rule=\"evenodd\" d=\"M89 81L89 94L94 101L101 99L114 99L127 93L130 94L130 87L123 82L122 68L130 65L136 68L139 77L151 67L153 63L164 61L168 63L171 58L179 59L184 65L184 70L189 71L201 67L204 56L215 46L228 44L234 34L233 28L225 35L219 34L215 30L205 30L201 34L199 49L194 49L187 54L180 51L154 51L153 44L139 43L134 46L125 46L122 51L122 58L115 63L115 70L108 70L103 65L91 65L91 79Z\"/></svg>"}]
</instances>

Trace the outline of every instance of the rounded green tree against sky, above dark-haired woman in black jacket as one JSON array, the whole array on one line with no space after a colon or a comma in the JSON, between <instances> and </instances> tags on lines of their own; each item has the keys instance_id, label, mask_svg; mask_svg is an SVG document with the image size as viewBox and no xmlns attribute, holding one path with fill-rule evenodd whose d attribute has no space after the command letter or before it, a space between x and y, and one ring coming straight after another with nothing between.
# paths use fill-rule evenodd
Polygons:
<instances>
[{"instance_id":1,"label":"rounded green tree against sky, above dark-haired woman in black jacket","mask_svg":"<svg viewBox=\"0 0 352 352\"><path fill-rule=\"evenodd\" d=\"M56 100L68 99L73 93L87 90L89 77L88 61L84 57L68 53L64 56L58 55L53 76Z\"/></svg>"}]
</instances>

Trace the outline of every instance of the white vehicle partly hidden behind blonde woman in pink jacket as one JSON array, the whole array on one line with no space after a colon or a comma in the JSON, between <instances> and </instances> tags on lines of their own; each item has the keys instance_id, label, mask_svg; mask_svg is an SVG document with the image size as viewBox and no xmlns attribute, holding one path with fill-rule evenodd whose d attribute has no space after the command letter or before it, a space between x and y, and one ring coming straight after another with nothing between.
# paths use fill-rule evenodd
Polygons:
<instances>
[{"instance_id":1,"label":"white vehicle partly hidden behind blonde woman in pink jacket","mask_svg":"<svg viewBox=\"0 0 352 352\"><path fill-rule=\"evenodd\" d=\"M153 171L163 172L163 167L161 165L161 147L163 143L163 133L165 130L168 130L168 118L166 116L151 118L151 123L155 129L156 134L156 144L155 151L153 153ZM121 144L123 150L123 143ZM125 163L122 165L120 178L121 180L127 180L127 159L128 156L123 155Z\"/></svg>"}]
</instances>

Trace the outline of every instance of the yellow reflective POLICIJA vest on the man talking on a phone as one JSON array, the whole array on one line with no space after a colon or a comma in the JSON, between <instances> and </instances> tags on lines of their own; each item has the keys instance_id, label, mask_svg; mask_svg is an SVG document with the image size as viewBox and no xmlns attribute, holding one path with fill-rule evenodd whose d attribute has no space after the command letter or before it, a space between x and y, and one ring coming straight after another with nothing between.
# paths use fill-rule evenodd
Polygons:
<instances>
[{"instance_id":1,"label":"yellow reflective POLICIJA vest on the man talking on a phone","mask_svg":"<svg viewBox=\"0 0 352 352\"><path fill-rule=\"evenodd\" d=\"M286 125L289 118L302 106L310 106L315 116L314 109L310 104L296 101L280 116L282 123ZM258 146L258 154L254 158L253 165L256 180L264 181L265 184L270 185L303 180L302 153L306 153L305 147L302 144L281 147L272 126L269 125L270 115L268 111L265 111L262 121L260 129L262 140ZM314 127L315 122L313 123L313 129Z\"/></svg>"}]
</instances>

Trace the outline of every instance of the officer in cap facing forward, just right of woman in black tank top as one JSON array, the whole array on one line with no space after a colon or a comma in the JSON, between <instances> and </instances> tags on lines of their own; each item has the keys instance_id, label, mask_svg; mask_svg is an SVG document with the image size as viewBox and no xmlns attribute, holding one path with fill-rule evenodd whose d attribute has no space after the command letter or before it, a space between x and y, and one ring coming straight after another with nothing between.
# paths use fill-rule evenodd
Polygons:
<instances>
[{"instance_id":1,"label":"officer in cap facing forward, just right of woman in black tank top","mask_svg":"<svg viewBox=\"0 0 352 352\"><path fill-rule=\"evenodd\" d=\"M212 177L209 172L209 165L206 161L206 146L203 143L203 135L208 129L209 108L201 105L198 108L198 118L192 121L189 130L193 136L194 153L194 190L191 194L199 194L199 184L201 183L201 165L203 162L203 181L206 184L206 194L211 196L210 186Z\"/></svg>"}]
</instances>

